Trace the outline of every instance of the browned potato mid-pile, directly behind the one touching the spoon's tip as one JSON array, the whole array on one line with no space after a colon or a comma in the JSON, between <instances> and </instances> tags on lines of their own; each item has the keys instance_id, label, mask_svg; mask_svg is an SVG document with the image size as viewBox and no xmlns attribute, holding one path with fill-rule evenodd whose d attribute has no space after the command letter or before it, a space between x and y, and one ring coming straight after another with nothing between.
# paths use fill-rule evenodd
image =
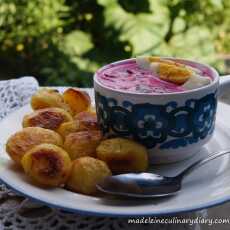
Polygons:
<instances>
[{"instance_id":1,"label":"browned potato mid-pile, directly behind the one touching the spoon's tip","mask_svg":"<svg viewBox=\"0 0 230 230\"><path fill-rule=\"evenodd\" d=\"M82 157L94 157L101 141L101 132L96 130L70 133L64 142L64 149L72 160Z\"/></svg>"}]
</instances>

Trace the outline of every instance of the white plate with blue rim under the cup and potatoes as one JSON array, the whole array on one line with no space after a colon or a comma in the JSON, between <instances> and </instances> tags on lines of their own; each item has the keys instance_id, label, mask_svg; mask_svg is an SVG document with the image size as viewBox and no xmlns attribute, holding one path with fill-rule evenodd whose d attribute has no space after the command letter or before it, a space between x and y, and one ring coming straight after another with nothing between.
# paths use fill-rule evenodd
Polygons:
<instances>
[{"instance_id":1,"label":"white plate with blue rim under the cup and potatoes","mask_svg":"<svg viewBox=\"0 0 230 230\"><path fill-rule=\"evenodd\" d=\"M191 162L215 151L230 148L230 106L219 103L214 137L192 159L171 165L155 166L152 171L175 175ZM5 152L7 138L21 129L23 115L30 111L25 106L1 121L0 179L13 190L49 206L81 214L100 216L150 216L192 211L218 205L230 200L230 156L226 155L197 169L183 181L178 195L163 199L131 200L104 199L56 189L42 189L30 184L23 172L15 169Z\"/></svg>"}]
</instances>

